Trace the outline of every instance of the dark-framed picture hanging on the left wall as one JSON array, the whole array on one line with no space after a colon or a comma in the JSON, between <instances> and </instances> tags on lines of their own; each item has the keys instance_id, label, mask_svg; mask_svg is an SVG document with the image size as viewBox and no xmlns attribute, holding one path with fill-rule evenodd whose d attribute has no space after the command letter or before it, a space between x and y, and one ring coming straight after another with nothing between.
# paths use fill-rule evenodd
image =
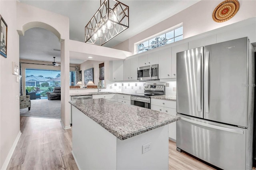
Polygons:
<instances>
[{"instance_id":1,"label":"dark-framed picture hanging on the left wall","mask_svg":"<svg viewBox=\"0 0 256 170\"><path fill-rule=\"evenodd\" d=\"M0 15L0 54L7 58L7 24Z\"/></svg>"}]
</instances>

